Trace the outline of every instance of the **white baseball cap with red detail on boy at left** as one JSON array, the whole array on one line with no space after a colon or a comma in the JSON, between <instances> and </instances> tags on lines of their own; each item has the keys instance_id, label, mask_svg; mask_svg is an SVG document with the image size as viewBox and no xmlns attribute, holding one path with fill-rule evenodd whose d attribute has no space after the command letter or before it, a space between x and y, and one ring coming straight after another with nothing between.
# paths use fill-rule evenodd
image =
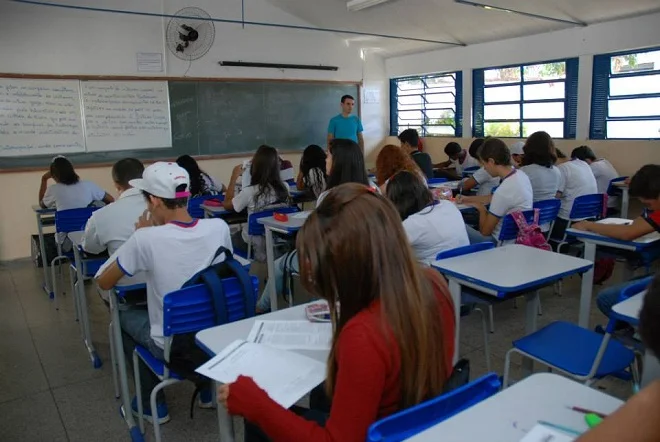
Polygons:
<instances>
[{"instance_id":1,"label":"white baseball cap with red detail on boy at left","mask_svg":"<svg viewBox=\"0 0 660 442\"><path fill-rule=\"evenodd\" d=\"M190 177L183 167L176 163L159 161L144 169L142 178L128 182L136 189L149 192L165 199L187 198L190 196ZM185 184L185 190L177 192L177 187Z\"/></svg>"}]
</instances>

